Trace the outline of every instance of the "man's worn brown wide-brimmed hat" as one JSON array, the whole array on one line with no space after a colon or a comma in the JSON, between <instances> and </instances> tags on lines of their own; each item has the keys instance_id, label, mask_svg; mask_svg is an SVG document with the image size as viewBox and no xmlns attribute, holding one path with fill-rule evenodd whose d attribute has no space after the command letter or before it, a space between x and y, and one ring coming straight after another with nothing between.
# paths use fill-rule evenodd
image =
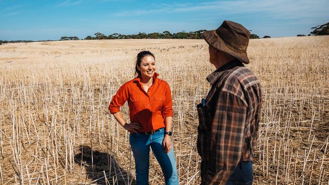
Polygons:
<instances>
[{"instance_id":1,"label":"man's worn brown wide-brimmed hat","mask_svg":"<svg viewBox=\"0 0 329 185\"><path fill-rule=\"evenodd\" d=\"M246 53L250 31L241 24L233 21L224 21L216 30L205 31L203 38L216 50L230 54L241 62L249 64Z\"/></svg>"}]
</instances>

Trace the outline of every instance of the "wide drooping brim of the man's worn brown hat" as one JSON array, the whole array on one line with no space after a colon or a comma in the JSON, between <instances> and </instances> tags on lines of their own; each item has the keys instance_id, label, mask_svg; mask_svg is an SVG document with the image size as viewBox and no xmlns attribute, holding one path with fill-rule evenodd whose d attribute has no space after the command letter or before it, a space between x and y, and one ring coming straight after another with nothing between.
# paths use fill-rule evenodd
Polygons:
<instances>
[{"instance_id":1,"label":"wide drooping brim of the man's worn brown hat","mask_svg":"<svg viewBox=\"0 0 329 185\"><path fill-rule=\"evenodd\" d=\"M203 39L216 50L221 52L227 53L236 57L244 64L249 64L249 59L246 52L237 52L230 49L225 42L217 35L216 30L204 31L203 32Z\"/></svg>"}]
</instances>

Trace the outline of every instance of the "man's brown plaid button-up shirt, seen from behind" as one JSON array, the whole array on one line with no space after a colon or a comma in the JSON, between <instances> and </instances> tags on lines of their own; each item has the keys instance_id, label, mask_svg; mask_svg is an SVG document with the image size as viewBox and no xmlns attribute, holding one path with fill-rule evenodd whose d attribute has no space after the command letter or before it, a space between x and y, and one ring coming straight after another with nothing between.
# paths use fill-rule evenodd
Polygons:
<instances>
[{"instance_id":1,"label":"man's brown plaid button-up shirt, seen from behind","mask_svg":"<svg viewBox=\"0 0 329 185\"><path fill-rule=\"evenodd\" d=\"M197 106L197 149L206 165L202 184L225 184L240 161L254 159L262 92L257 77L239 60L207 80L212 88Z\"/></svg>"}]
</instances>

